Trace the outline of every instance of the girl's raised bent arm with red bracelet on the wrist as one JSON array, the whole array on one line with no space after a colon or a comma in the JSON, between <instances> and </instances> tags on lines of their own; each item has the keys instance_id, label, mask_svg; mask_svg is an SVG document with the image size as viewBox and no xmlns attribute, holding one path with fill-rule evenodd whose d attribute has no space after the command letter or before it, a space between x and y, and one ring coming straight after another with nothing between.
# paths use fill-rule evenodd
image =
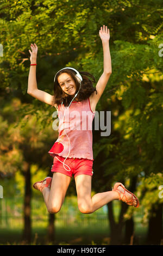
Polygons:
<instances>
[{"instance_id":1,"label":"girl's raised bent arm with red bracelet on the wrist","mask_svg":"<svg viewBox=\"0 0 163 256\"><path fill-rule=\"evenodd\" d=\"M38 47L36 46L36 44L31 44L30 47L32 48L32 52L29 50L30 63L36 64ZM27 93L35 97L37 100L43 101L49 105L53 105L54 96L49 93L43 92L43 90L39 90L37 88L36 65L30 66ZM57 105L54 104L53 106L56 108Z\"/></svg>"}]
</instances>

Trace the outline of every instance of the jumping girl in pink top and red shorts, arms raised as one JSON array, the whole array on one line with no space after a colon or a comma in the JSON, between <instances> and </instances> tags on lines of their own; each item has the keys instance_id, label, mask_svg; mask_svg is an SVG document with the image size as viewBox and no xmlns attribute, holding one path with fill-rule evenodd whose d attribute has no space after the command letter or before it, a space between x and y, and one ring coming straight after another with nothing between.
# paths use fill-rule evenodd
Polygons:
<instances>
[{"instance_id":1,"label":"jumping girl in pink top and red shorts, arms raised","mask_svg":"<svg viewBox=\"0 0 163 256\"><path fill-rule=\"evenodd\" d=\"M32 52L29 50L31 66L27 93L54 106L59 117L59 137L48 152L53 157L51 169L53 178L46 177L33 185L36 190L42 192L47 210L50 213L60 211L72 175L74 175L76 182L78 208L83 214L91 214L112 200L122 200L128 205L139 207L137 197L120 182L114 185L112 191L97 193L91 197L92 130L87 127L81 129L83 123L85 124L83 113L89 113L87 117L92 124L96 105L112 72L109 50L110 32L107 26L101 27L99 36L103 45L104 70L96 88L93 87L92 81L89 79L91 77L95 82L95 78L90 73L79 72L67 67L58 71L54 77L54 95L37 88L36 58L38 47L36 44L30 46ZM77 118L72 115L74 112Z\"/></svg>"}]
</instances>

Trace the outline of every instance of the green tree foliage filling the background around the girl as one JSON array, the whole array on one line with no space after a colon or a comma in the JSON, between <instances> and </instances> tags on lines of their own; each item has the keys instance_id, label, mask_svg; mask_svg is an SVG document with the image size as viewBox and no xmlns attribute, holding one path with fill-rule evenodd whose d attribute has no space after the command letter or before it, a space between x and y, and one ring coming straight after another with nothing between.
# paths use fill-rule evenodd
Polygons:
<instances>
[{"instance_id":1,"label":"green tree foliage filling the background around the girl","mask_svg":"<svg viewBox=\"0 0 163 256\"><path fill-rule=\"evenodd\" d=\"M57 137L51 126L54 109L27 95L30 44L35 42L39 47L39 89L52 94L54 75L65 66L92 73L97 83L103 72L98 32L104 24L110 29L112 74L97 109L111 111L112 129L109 138L98 137L93 145L96 159L105 155L101 177L94 188L108 188L108 182L115 180L127 183L135 177L140 193L150 179L155 184L157 177L156 186L161 184L161 0L3 0L0 24L1 172L24 172L26 164L22 167L21 163L30 161L40 170L40 174L32 171L33 178L41 178L49 163L45 152L52 138ZM27 148L22 147L24 144ZM45 159L46 164L39 168L39 160L43 164ZM147 212L152 204L161 203L156 186L154 190L147 186L147 192L141 194L141 204Z\"/></svg>"}]
</instances>

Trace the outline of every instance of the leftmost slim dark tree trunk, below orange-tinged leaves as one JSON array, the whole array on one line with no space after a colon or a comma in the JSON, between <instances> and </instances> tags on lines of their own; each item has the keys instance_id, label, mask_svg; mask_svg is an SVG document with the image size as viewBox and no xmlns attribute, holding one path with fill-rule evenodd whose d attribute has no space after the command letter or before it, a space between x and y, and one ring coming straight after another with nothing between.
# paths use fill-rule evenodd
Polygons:
<instances>
[{"instance_id":1,"label":"leftmost slim dark tree trunk, below orange-tinged leaves","mask_svg":"<svg viewBox=\"0 0 163 256\"><path fill-rule=\"evenodd\" d=\"M24 230L23 240L30 243L31 241L31 219L30 219L30 200L31 200L31 179L30 179L30 165L25 171L25 193L24 193Z\"/></svg>"}]
</instances>

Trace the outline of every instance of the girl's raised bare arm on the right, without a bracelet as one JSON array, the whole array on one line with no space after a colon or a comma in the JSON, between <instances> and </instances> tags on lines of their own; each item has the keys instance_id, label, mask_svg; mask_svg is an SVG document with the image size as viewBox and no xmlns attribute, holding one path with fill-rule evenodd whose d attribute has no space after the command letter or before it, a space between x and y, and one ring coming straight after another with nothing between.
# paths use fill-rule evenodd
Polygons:
<instances>
[{"instance_id":1,"label":"girl's raised bare arm on the right, without a bracelet","mask_svg":"<svg viewBox=\"0 0 163 256\"><path fill-rule=\"evenodd\" d=\"M103 27L101 27L99 31L99 36L102 40L102 45L103 45L104 71L96 84L97 94L95 91L90 96L90 101L91 101L91 105L93 106L93 109L96 108L96 105L101 95L103 94L106 84L108 83L109 77L112 73L111 56L110 56L110 49L109 49L110 32L107 26L103 25Z\"/></svg>"}]
</instances>

